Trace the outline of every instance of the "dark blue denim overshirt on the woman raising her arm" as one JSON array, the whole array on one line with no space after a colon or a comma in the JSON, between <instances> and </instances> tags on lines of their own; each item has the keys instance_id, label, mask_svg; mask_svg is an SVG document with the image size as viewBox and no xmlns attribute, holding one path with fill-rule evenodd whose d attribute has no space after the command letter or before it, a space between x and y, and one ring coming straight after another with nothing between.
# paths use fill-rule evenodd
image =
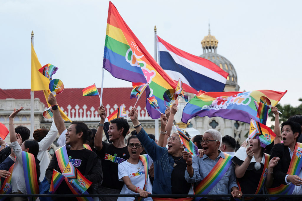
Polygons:
<instances>
[{"instance_id":1,"label":"dark blue denim overshirt on the woman raising her arm","mask_svg":"<svg viewBox=\"0 0 302 201\"><path fill-rule=\"evenodd\" d=\"M167 148L158 146L143 128L137 134L137 138L154 163L152 194L172 194L171 174L174 169L173 157L168 154Z\"/></svg>"}]
</instances>

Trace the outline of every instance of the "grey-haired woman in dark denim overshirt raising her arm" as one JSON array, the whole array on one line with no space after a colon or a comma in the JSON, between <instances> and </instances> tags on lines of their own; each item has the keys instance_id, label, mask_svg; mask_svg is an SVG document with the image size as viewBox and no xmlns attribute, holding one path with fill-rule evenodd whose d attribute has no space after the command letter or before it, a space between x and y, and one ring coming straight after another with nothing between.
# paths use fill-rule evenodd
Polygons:
<instances>
[{"instance_id":1,"label":"grey-haired woman in dark denim overshirt raising her arm","mask_svg":"<svg viewBox=\"0 0 302 201\"><path fill-rule=\"evenodd\" d=\"M158 146L154 140L149 138L138 121L137 116L137 109L132 108L129 117L138 133L137 138L154 161L152 194L188 194L191 184L185 181L185 168L187 164L182 157L183 146L178 133L172 133L168 138L168 149ZM193 194L193 191L190 194ZM157 199L153 197L153 200ZM170 199L165 198L165 200Z\"/></svg>"}]
</instances>

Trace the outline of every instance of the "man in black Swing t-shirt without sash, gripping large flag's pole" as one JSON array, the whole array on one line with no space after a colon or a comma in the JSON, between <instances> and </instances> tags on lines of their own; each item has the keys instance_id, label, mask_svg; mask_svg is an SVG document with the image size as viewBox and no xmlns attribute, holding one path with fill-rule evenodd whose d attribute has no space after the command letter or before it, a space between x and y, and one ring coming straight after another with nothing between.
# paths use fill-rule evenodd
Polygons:
<instances>
[{"instance_id":1,"label":"man in black Swing t-shirt without sash, gripping large flag's pole","mask_svg":"<svg viewBox=\"0 0 302 201\"><path fill-rule=\"evenodd\" d=\"M100 194L119 194L124 182L118 181L117 166L129 159L124 138L129 130L129 124L124 118L115 118L110 121L108 135L112 143L105 143L103 139L103 127L106 118L104 106L98 108L101 121L95 134L96 153L102 160L104 172L103 184L98 188ZM102 200L117 200L117 197L104 197Z\"/></svg>"}]
</instances>

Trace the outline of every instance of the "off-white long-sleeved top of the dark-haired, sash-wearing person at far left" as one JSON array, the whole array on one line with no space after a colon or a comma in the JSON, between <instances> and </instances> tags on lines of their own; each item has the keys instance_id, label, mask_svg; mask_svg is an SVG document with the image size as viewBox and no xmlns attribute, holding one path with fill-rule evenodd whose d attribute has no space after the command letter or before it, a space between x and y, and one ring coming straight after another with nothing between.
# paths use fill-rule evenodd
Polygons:
<instances>
[{"instance_id":1,"label":"off-white long-sleeved top of the dark-haired, sash-wearing person at far left","mask_svg":"<svg viewBox=\"0 0 302 201\"><path fill-rule=\"evenodd\" d=\"M18 144L17 141L12 142L9 146L13 149L16 155L14 170L11 174L11 192L17 193L18 191L21 191L22 193L27 194L23 172L21 146Z\"/></svg>"}]
</instances>

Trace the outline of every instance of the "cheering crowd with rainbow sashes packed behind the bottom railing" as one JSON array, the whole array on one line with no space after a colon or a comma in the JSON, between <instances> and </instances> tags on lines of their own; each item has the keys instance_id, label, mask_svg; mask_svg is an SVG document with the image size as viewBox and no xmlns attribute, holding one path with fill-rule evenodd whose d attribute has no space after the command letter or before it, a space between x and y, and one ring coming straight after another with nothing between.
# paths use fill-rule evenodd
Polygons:
<instances>
[{"instance_id":1,"label":"cheering crowd with rainbow sashes packed behind the bottom railing","mask_svg":"<svg viewBox=\"0 0 302 201\"><path fill-rule=\"evenodd\" d=\"M28 140L30 131L24 126L14 127L14 117L23 109L15 109L9 116L10 145L0 140L1 194L50 194L54 170L65 171L69 162L92 184L84 194L139 194L145 200L193 200L183 195L200 196L197 200L240 199L244 194L302 195L302 115L294 115L281 124L278 109L276 138L263 147L259 139L243 142L236 151L236 141L231 136L222 137L214 129L196 135L191 141L198 147L199 155L192 156L173 125L177 105L161 114L159 139L146 133L136 108L132 108L130 125L124 118L106 122L106 110L98 108L98 129L89 129L83 122L73 121L68 129L61 117L56 98L50 94L53 123L50 130L37 129L34 140ZM48 149L56 139L60 148L53 156ZM107 141L103 141L103 133ZM127 136L127 141L125 141ZM130 137L129 137L130 136ZM188 136L189 137L189 136ZM64 179L55 194L77 194L68 179ZM159 198L149 195L182 195ZM221 197L219 195L230 195ZM5 195L3 195L5 199ZM28 200L27 197L6 198ZM75 200L75 197L40 197L40 200ZM88 197L89 200L133 200L133 197ZM253 199L253 198L249 198ZM276 196L278 200L300 200L299 197ZM268 200L256 197L255 200Z\"/></svg>"}]
</instances>

